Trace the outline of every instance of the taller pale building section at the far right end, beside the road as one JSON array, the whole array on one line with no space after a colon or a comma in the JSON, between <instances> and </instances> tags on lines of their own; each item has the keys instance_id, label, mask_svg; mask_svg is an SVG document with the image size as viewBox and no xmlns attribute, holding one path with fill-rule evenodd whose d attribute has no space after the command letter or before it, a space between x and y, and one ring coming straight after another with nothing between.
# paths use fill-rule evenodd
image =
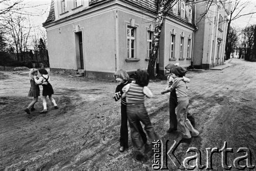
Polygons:
<instances>
[{"instance_id":1,"label":"taller pale building section at the far right end, beside the road","mask_svg":"<svg viewBox=\"0 0 256 171\"><path fill-rule=\"evenodd\" d=\"M229 9L229 1L195 1L194 67L209 69L223 64Z\"/></svg>"}]
</instances>

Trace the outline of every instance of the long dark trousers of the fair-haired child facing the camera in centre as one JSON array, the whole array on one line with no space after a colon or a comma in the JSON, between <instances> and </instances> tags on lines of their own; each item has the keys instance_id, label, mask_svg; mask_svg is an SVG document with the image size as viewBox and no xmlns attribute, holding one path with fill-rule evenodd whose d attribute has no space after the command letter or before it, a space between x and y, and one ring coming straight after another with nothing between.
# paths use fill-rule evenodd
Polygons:
<instances>
[{"instance_id":1,"label":"long dark trousers of the fair-haired child facing the camera in centre","mask_svg":"<svg viewBox=\"0 0 256 171\"><path fill-rule=\"evenodd\" d=\"M137 125L140 135L144 143L146 143L147 138L146 134L143 131L141 124ZM126 105L121 103L121 128L120 128L120 146L123 146L125 149L128 148L128 127L127 127L127 112Z\"/></svg>"}]
</instances>

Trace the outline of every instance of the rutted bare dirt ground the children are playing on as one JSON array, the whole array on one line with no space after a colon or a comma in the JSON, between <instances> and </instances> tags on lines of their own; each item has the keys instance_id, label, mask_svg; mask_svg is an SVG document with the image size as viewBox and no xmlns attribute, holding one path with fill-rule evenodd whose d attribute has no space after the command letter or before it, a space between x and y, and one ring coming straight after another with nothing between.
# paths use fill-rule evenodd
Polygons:
<instances>
[{"instance_id":1,"label":"rutted bare dirt ground the children are playing on","mask_svg":"<svg viewBox=\"0 0 256 171\"><path fill-rule=\"evenodd\" d=\"M226 141L234 150L228 158L230 165L240 147L251 150L255 165L256 63L232 60L230 64L222 71L188 72L189 111L200 136L179 146L176 154L180 160L187 148L194 146L202 151L205 164L205 148L221 149ZM4 74L9 78L0 80L0 170L151 169L150 149L147 161L135 160L131 138L129 150L118 151L120 102L112 99L118 83L50 74L59 109L48 100L48 113L40 114L39 99L29 119L23 111L32 101L27 96L28 76ZM148 85L154 97L145 105L156 132L171 145L180 136L165 132L169 108L168 94L160 94L166 86L163 82ZM213 161L214 170L223 169L220 154L213 155ZM172 163L169 168L176 169Z\"/></svg>"}]
</instances>

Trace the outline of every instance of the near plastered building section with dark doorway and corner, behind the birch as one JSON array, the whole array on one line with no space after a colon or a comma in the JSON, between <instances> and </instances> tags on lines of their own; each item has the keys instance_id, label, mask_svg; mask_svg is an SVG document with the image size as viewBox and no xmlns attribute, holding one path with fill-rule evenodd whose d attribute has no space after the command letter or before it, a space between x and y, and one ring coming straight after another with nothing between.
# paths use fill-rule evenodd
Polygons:
<instances>
[{"instance_id":1,"label":"near plastered building section with dark doorway and corner, behind the birch","mask_svg":"<svg viewBox=\"0 0 256 171\"><path fill-rule=\"evenodd\" d=\"M178 1L163 20L159 57L164 66L191 65L193 2ZM51 71L84 70L91 78L113 79L118 69L147 69L155 29L154 0L52 0L47 31Z\"/></svg>"}]
</instances>

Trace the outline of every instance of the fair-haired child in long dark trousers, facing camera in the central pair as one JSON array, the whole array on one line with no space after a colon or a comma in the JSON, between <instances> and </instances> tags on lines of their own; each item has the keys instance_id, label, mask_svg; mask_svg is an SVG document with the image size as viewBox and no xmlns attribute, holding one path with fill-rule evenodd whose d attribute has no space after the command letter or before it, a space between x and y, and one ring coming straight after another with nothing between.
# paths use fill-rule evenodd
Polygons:
<instances>
[{"instance_id":1,"label":"fair-haired child in long dark trousers, facing camera in the central pair","mask_svg":"<svg viewBox=\"0 0 256 171\"><path fill-rule=\"evenodd\" d=\"M117 82L120 84L116 87L114 99L118 101L121 99L121 127L120 127L120 148L119 151L123 152L125 149L128 148L128 127L127 127L127 113L126 113L126 99L121 98L123 91L122 88L129 83L129 75L125 70L118 70L115 72L114 77L116 78ZM138 126L143 141L146 142L146 134L143 131L141 125Z\"/></svg>"}]
</instances>

